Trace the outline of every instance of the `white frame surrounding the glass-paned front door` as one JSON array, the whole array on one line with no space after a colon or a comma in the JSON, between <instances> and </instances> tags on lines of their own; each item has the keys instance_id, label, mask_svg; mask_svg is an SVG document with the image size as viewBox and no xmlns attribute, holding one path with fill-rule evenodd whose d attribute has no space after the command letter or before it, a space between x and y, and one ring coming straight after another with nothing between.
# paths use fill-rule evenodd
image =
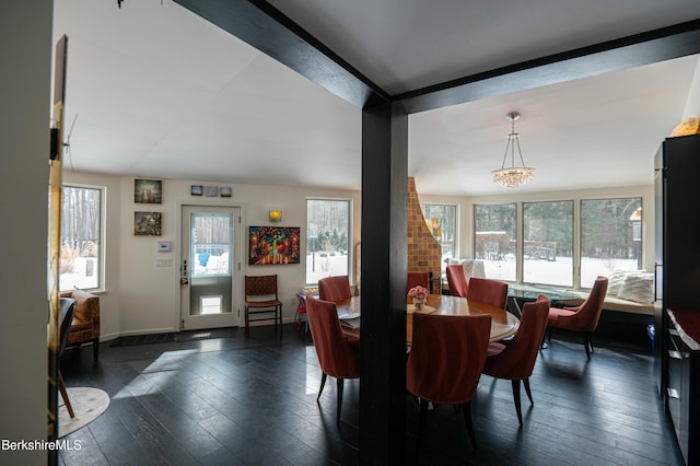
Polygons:
<instances>
[{"instance_id":1,"label":"white frame surrounding the glass-paned front door","mask_svg":"<svg viewBox=\"0 0 700 466\"><path fill-rule=\"evenodd\" d=\"M178 331L183 330L183 301L184 301L184 295L189 295L189 293L184 293L183 292L183 287L180 286L180 277L182 275L182 266L183 266L183 222L185 220L187 220L187 222L189 222L189 219L184 219L183 218L183 210L185 208L195 208L195 209L208 209L208 208L223 208L223 209L238 209L240 212L240 217L238 217L238 230L240 230L240 234L234 235L233 238L233 251L235 252L235 258L236 261L232 265L233 270L234 270L234 276L233 276L233 282L232 282L232 289L234 291L234 295L235 295L235 301L232 301L232 312L234 313L234 315L236 315L237 317L237 326L241 327L242 323L243 325L245 325L245 316L244 316L244 296L243 296L243 275L245 273L245 264L244 264L244 258L245 256L245 247L247 245L247 232L245 231L245 225L247 224L247 222L244 221L245 219L245 214L246 214L246 205L245 202L217 202L217 201L200 201L199 199L195 200L195 199L188 199L188 200L179 200L176 202L176 234L175 234L175 253L176 253L176 257L177 257L177 267L175 267L176 270L176 282L177 282L177 306L176 306L176 314L175 314L175 321L176 321L176 325L175 328L178 329ZM234 229L236 225L236 220L234 219ZM189 277L189 270L188 270L188 277Z\"/></svg>"}]
</instances>

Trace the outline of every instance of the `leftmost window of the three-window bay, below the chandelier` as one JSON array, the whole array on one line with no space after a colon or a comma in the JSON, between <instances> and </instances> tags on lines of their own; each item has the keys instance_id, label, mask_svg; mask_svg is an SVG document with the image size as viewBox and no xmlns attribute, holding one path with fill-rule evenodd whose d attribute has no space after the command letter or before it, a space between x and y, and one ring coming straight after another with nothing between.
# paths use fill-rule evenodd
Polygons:
<instances>
[{"instance_id":1,"label":"leftmost window of the three-window bay, below the chandelier","mask_svg":"<svg viewBox=\"0 0 700 466\"><path fill-rule=\"evenodd\" d=\"M515 281L516 205L475 206L474 232L474 258L483 260L487 278Z\"/></svg>"}]
</instances>

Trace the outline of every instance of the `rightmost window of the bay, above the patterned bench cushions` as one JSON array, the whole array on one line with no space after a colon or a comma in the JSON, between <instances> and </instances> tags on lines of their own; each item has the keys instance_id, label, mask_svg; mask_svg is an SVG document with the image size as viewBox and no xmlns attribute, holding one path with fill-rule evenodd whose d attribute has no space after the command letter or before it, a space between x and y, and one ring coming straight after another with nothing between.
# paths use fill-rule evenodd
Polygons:
<instances>
[{"instance_id":1,"label":"rightmost window of the bay, above the patterned bench cushions","mask_svg":"<svg viewBox=\"0 0 700 466\"><path fill-rule=\"evenodd\" d=\"M642 263L642 199L581 201L581 287L598 275L638 270Z\"/></svg>"}]
</instances>

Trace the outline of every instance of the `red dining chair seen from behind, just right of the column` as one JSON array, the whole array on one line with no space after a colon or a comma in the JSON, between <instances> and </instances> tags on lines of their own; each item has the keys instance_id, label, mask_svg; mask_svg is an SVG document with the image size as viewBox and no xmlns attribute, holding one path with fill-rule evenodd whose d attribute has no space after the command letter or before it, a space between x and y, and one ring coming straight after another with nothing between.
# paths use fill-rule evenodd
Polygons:
<instances>
[{"instance_id":1,"label":"red dining chair seen from behind, just right of the column","mask_svg":"<svg viewBox=\"0 0 700 466\"><path fill-rule=\"evenodd\" d=\"M406 388L420 403L419 438L425 427L429 401L455 405L462 407L469 439L476 448L470 403L483 370L490 328L489 314L413 314Z\"/></svg>"}]
</instances>

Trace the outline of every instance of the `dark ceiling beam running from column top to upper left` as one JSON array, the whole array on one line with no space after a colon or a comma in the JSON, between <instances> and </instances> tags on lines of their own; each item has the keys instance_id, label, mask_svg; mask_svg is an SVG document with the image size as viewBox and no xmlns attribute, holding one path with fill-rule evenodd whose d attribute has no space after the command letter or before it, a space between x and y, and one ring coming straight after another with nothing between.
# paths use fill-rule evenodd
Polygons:
<instances>
[{"instance_id":1,"label":"dark ceiling beam running from column top to upper left","mask_svg":"<svg viewBox=\"0 0 700 466\"><path fill-rule=\"evenodd\" d=\"M359 108L390 101L371 80L266 1L173 1Z\"/></svg>"}]
</instances>

